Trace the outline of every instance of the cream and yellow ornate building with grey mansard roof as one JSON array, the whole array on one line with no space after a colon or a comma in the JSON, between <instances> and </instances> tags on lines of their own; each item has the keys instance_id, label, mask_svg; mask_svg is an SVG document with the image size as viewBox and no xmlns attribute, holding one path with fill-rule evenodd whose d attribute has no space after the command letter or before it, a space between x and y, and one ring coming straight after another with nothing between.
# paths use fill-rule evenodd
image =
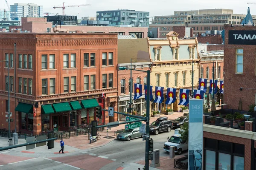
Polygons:
<instances>
[{"instance_id":1,"label":"cream and yellow ornate building with grey mansard roof","mask_svg":"<svg viewBox=\"0 0 256 170\"><path fill-rule=\"evenodd\" d=\"M155 86L164 87L164 100L157 106L152 103L151 108L156 111L165 112L166 108L172 108L179 111L179 100L171 105L166 105L167 88L177 88L176 96L179 95L179 89L192 90L192 74L194 72L194 87L198 87L200 58L198 56L198 42L196 37L189 39L179 39L178 34L171 31L166 34L166 38L148 39L148 48L150 51L151 67L150 82L153 86L153 96ZM194 70L192 72L192 63Z\"/></svg>"}]
</instances>

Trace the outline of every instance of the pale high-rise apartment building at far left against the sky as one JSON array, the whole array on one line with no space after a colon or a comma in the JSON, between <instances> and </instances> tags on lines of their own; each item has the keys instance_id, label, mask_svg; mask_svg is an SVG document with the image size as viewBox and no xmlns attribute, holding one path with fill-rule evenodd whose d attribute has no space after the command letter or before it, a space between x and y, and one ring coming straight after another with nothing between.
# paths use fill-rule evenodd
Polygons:
<instances>
[{"instance_id":1,"label":"pale high-rise apartment building at far left against the sky","mask_svg":"<svg viewBox=\"0 0 256 170\"><path fill-rule=\"evenodd\" d=\"M43 17L43 6L35 3L15 3L10 8L12 20L21 20L21 17Z\"/></svg>"}]
</instances>

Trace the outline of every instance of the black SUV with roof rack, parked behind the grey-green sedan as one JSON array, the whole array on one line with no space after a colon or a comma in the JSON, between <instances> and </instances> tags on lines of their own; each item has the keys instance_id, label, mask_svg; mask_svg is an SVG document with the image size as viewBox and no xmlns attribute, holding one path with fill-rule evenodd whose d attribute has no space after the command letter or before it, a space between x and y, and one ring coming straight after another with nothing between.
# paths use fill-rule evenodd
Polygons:
<instances>
[{"instance_id":1,"label":"black SUV with roof rack, parked behind the grey-green sedan","mask_svg":"<svg viewBox=\"0 0 256 170\"><path fill-rule=\"evenodd\" d=\"M167 120L168 117L160 117L149 126L150 133L158 135L159 132L170 132L173 128L171 120Z\"/></svg>"}]
</instances>

